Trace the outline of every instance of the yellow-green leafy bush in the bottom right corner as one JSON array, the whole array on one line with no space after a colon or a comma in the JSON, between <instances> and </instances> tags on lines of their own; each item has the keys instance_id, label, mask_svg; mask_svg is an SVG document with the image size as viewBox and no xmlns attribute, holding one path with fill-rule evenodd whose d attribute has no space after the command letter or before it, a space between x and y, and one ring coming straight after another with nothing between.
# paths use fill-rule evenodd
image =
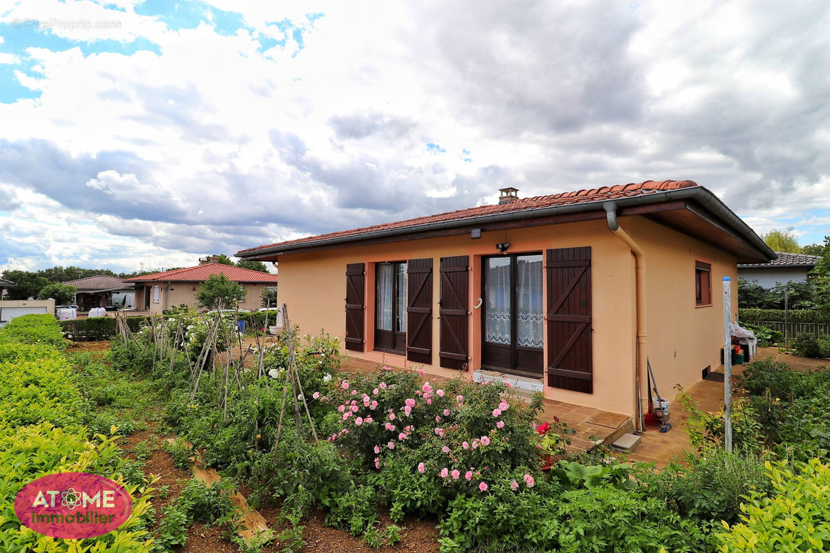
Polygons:
<instances>
[{"instance_id":1,"label":"yellow-green leafy bush in the bottom right corner","mask_svg":"<svg viewBox=\"0 0 830 553\"><path fill-rule=\"evenodd\" d=\"M812 459L795 469L766 468L773 491L749 493L740 523L724 523L720 551L830 551L830 467Z\"/></svg>"}]
</instances>

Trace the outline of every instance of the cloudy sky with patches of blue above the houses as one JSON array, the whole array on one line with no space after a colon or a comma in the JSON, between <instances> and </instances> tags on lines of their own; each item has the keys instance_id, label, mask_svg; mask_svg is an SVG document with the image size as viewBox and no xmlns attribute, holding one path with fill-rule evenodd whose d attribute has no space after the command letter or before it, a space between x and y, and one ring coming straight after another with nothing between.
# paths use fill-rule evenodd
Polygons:
<instances>
[{"instance_id":1,"label":"cloudy sky with patches of blue above the houses","mask_svg":"<svg viewBox=\"0 0 830 553\"><path fill-rule=\"evenodd\" d=\"M0 0L0 270L647 179L830 234L827 2Z\"/></svg>"}]
</instances>

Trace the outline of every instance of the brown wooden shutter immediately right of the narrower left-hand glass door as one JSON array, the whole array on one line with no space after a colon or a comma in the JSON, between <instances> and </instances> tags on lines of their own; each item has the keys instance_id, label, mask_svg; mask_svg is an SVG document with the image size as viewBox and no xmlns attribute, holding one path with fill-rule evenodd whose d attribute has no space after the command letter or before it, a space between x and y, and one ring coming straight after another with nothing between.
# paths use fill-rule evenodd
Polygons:
<instances>
[{"instance_id":1,"label":"brown wooden shutter immediately right of the narrower left-hand glass door","mask_svg":"<svg viewBox=\"0 0 830 553\"><path fill-rule=\"evenodd\" d=\"M407 261L407 359L432 365L432 259Z\"/></svg>"}]
</instances>

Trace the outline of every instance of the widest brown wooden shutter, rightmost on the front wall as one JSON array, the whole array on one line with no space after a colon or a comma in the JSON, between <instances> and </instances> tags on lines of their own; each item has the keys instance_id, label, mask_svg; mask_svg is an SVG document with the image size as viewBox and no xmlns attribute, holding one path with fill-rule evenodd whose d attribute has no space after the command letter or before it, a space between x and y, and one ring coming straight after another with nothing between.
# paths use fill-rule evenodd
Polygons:
<instances>
[{"instance_id":1,"label":"widest brown wooden shutter, rightmost on the front wall","mask_svg":"<svg viewBox=\"0 0 830 553\"><path fill-rule=\"evenodd\" d=\"M548 386L593 393L591 248L548 250Z\"/></svg>"}]
</instances>

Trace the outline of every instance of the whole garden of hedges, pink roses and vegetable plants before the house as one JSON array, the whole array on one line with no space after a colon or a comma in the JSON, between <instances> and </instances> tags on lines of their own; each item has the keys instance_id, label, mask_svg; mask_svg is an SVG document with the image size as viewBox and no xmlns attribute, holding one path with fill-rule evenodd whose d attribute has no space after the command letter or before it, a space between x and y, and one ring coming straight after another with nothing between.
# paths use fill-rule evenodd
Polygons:
<instances>
[{"instance_id":1,"label":"whole garden of hedges, pink roses and vegetable plants before the house","mask_svg":"<svg viewBox=\"0 0 830 553\"><path fill-rule=\"evenodd\" d=\"M564 424L504 384L352 374L337 337L243 347L236 328L178 309L111 342L72 345L45 316L0 330L0 549L830 550L830 372L750 363L731 454L723 413L681 393L691 450L656 468L564 454ZM122 483L125 525L82 541L22 526L17 491L61 471ZM251 536L235 492L267 531Z\"/></svg>"}]
</instances>

